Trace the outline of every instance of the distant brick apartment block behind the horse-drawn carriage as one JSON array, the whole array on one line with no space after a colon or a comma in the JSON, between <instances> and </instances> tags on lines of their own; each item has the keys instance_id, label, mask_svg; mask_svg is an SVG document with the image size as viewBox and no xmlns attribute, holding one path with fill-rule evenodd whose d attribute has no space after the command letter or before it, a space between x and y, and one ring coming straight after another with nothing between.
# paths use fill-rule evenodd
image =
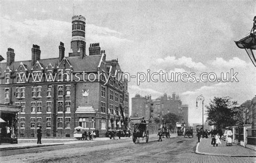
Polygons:
<instances>
[{"instance_id":1,"label":"distant brick apartment block behind the horse-drawn carriage","mask_svg":"<svg viewBox=\"0 0 256 163\"><path fill-rule=\"evenodd\" d=\"M180 121L188 124L188 105L182 105L175 93L172 97L164 94L154 100L151 96L143 97L139 94L132 98L132 117L145 117L148 120L151 117L162 117L169 112L181 116Z\"/></svg>"}]
</instances>

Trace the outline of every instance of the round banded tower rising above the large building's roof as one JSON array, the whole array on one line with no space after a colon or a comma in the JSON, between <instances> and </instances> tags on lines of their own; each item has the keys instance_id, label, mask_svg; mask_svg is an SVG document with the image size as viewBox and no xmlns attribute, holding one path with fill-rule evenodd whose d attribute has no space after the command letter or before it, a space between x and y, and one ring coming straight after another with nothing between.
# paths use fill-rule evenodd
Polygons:
<instances>
[{"instance_id":1,"label":"round banded tower rising above the large building's roof","mask_svg":"<svg viewBox=\"0 0 256 163\"><path fill-rule=\"evenodd\" d=\"M86 55L85 47L85 17L75 15L72 17L72 39L69 56L80 56L80 58L83 58Z\"/></svg>"}]
</instances>

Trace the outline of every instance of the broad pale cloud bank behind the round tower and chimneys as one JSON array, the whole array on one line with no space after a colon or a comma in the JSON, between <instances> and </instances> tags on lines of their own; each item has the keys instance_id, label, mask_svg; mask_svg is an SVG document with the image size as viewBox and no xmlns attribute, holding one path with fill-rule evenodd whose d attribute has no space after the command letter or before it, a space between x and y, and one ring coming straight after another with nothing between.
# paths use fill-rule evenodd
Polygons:
<instances>
[{"instance_id":1,"label":"broad pale cloud bank behind the round tower and chimneys","mask_svg":"<svg viewBox=\"0 0 256 163\"><path fill-rule=\"evenodd\" d=\"M18 54L15 60L29 60L27 54L31 53L32 44L41 46L41 58L58 55L59 41L64 42L69 52L71 41L71 22L63 22L53 19L37 20L26 19L22 22L14 22L9 16L0 17L1 47L0 52L6 53L8 47L15 49ZM107 27L86 24L86 42L100 42L104 47L117 48L123 42L130 41L122 38L122 33Z\"/></svg>"}]
</instances>

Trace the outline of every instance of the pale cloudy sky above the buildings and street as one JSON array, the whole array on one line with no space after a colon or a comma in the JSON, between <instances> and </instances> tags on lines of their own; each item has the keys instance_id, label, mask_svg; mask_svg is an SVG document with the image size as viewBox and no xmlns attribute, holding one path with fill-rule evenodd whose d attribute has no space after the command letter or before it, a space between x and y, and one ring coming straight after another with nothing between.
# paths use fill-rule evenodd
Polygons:
<instances>
[{"instance_id":1,"label":"pale cloudy sky above the buildings and street","mask_svg":"<svg viewBox=\"0 0 256 163\"><path fill-rule=\"evenodd\" d=\"M30 60L32 44L41 58L58 56L65 44L68 56L71 18L86 18L86 45L99 42L106 59L118 59L124 72L227 73L238 82L129 82L130 106L135 94L157 98L180 96L188 104L188 122L201 123L202 105L230 96L239 104L256 95L256 69L234 40L245 37L256 15L253 1L1 1L0 53L14 48L15 60ZM86 49L88 53L88 48ZM205 107L204 107L205 108ZM131 109L131 108L130 108ZM206 113L206 112L205 112ZM206 119L207 115L205 115Z\"/></svg>"}]
</instances>

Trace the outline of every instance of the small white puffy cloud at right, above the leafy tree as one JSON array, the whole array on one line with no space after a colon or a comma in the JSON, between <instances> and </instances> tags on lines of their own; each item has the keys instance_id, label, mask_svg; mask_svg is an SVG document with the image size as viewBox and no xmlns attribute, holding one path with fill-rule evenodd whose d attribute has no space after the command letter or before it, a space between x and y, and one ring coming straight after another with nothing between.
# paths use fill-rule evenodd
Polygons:
<instances>
[{"instance_id":1,"label":"small white puffy cloud at right, above the leafy tree","mask_svg":"<svg viewBox=\"0 0 256 163\"><path fill-rule=\"evenodd\" d=\"M233 68L233 67L241 67L244 68L247 66L246 61L239 59L238 57L233 57L228 61L224 60L223 58L217 57L215 60L211 62L211 65L214 67L226 67L226 68Z\"/></svg>"}]
</instances>

